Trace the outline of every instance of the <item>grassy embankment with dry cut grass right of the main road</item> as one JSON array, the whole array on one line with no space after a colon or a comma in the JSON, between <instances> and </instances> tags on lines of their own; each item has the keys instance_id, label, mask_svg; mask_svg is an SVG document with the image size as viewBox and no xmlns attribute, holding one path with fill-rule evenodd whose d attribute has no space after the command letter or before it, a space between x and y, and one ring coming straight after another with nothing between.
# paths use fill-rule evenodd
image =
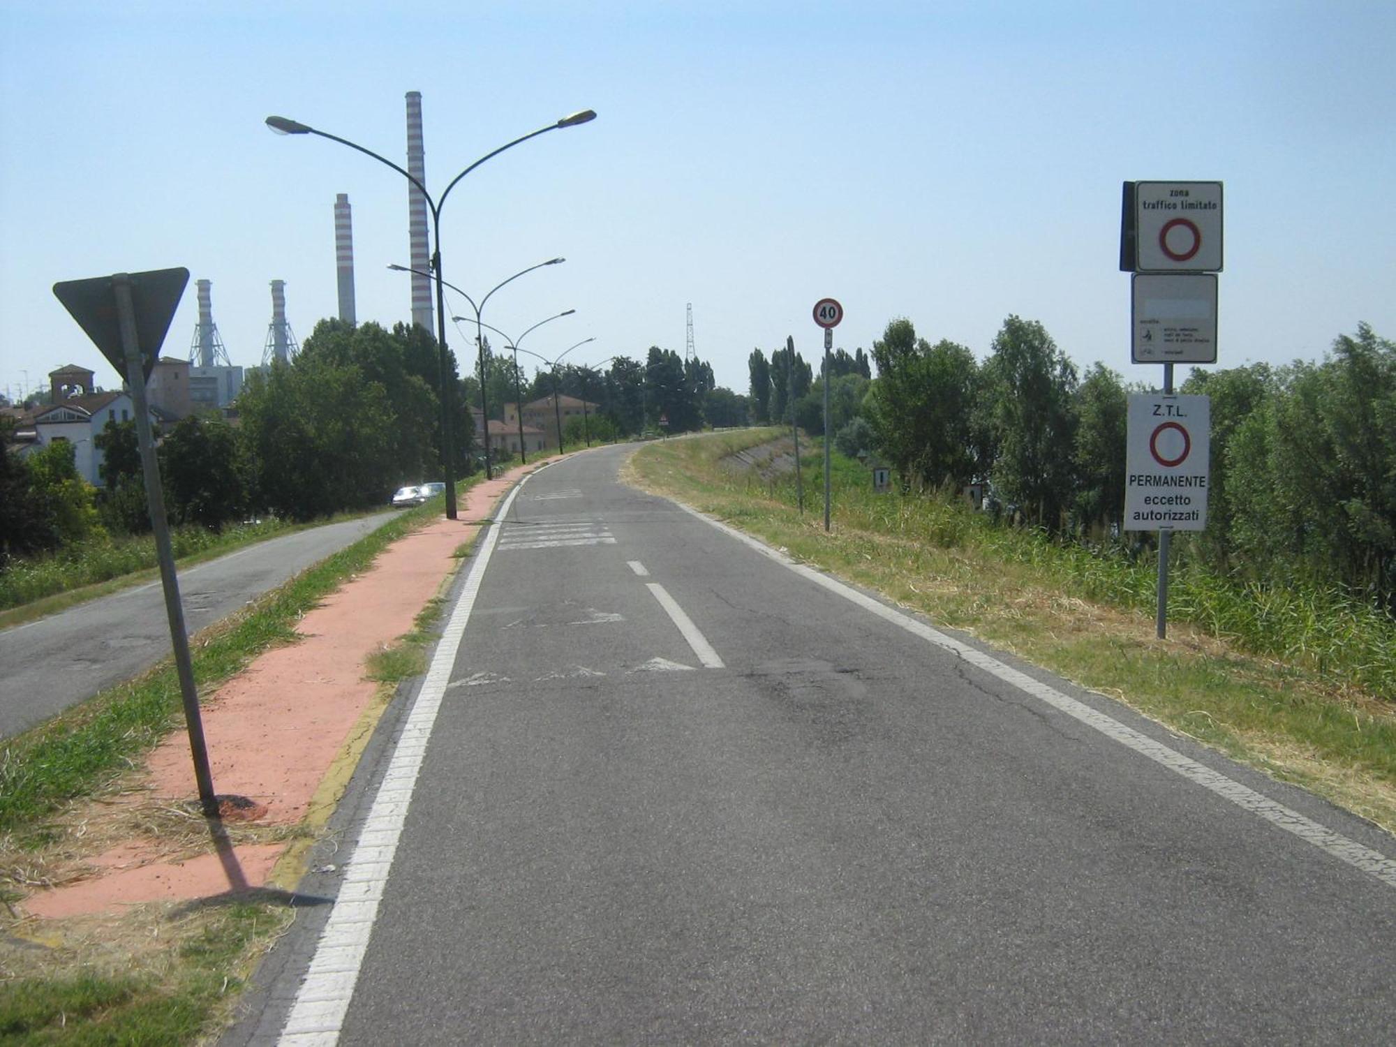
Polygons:
<instances>
[{"instance_id":1,"label":"grassy embankment with dry cut grass right of the main road","mask_svg":"<svg viewBox=\"0 0 1396 1047\"><path fill-rule=\"evenodd\" d=\"M768 479L725 456L778 430L651 444L635 482L877 589L1174 730L1300 783L1396 831L1396 623L1333 595L1235 586L1199 570L1170 579L1154 637L1156 563L1094 556L995 526L958 500L874 494L835 455L824 530L822 448Z\"/></svg>"}]
</instances>

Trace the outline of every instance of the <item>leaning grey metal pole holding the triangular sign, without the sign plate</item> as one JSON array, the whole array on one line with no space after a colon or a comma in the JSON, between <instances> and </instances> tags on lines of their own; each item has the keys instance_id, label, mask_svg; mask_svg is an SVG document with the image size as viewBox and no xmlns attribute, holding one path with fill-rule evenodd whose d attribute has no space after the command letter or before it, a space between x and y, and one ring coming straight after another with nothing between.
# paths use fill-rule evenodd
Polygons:
<instances>
[{"instance_id":1,"label":"leaning grey metal pole holding the triangular sign, without the sign plate","mask_svg":"<svg viewBox=\"0 0 1396 1047\"><path fill-rule=\"evenodd\" d=\"M179 599L179 577L174 574L174 551L170 547L169 521L165 518L165 491L161 487L161 468L155 459L151 436L149 408L145 402L145 369L135 332L135 303L131 299L131 278L119 272L112 278L116 292L116 311L121 325L121 348L126 350L126 384L131 389L135 409L135 437L141 445L141 468L145 473L145 497L149 501L151 526L155 532L155 554L161 565L161 585L165 589L165 616L169 618L170 645L174 648L174 669L179 673L180 698L184 704L184 726L188 729L188 748L194 757L194 780L198 801L205 817L218 817L218 797L214 796L214 775L208 768L208 745L204 741L204 720L198 711L198 688L194 666L188 656L188 634L184 628L184 606Z\"/></svg>"}]
</instances>

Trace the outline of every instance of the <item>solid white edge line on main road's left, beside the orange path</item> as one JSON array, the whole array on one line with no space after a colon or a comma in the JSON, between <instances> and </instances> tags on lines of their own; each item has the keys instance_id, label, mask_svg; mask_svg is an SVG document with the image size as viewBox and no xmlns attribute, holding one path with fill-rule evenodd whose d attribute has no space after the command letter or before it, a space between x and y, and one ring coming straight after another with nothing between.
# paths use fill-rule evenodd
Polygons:
<instances>
[{"instance_id":1,"label":"solid white edge line on main road's left, beside the orange path","mask_svg":"<svg viewBox=\"0 0 1396 1047\"><path fill-rule=\"evenodd\" d=\"M508 515L514 498L526 482L528 476L510 491L500 511L500 519ZM339 1040L353 987L363 967L363 956L369 949L369 935L373 934L373 923L378 914L378 900L388 882L398 838L402 835L408 803L412 800L412 790L426 757L427 740L441 708L441 699L451 684L451 666L455 664L456 652L465 638L465 625L479 596L480 581L484 578L484 568L490 563L498 533L498 528L489 528L480 537L480 550L472 561L470 574L441 634L441 642L431 656L422 690L388 764L388 772L378 786L353 856L345 867L339 898L325 928L320 933L315 955L286 1016L279 1040L283 1047L310 1047L310 1044L324 1047Z\"/></svg>"}]
</instances>

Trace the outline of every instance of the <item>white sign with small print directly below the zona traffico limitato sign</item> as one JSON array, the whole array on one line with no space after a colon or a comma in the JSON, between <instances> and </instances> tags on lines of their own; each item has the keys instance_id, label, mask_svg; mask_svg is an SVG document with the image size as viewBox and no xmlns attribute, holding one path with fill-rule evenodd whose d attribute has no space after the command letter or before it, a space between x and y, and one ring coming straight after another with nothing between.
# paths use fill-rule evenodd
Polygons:
<instances>
[{"instance_id":1,"label":"white sign with small print directly below the zona traffico limitato sign","mask_svg":"<svg viewBox=\"0 0 1396 1047\"><path fill-rule=\"evenodd\" d=\"M1136 272L1129 309L1134 363L1217 362L1217 278Z\"/></svg>"}]
</instances>

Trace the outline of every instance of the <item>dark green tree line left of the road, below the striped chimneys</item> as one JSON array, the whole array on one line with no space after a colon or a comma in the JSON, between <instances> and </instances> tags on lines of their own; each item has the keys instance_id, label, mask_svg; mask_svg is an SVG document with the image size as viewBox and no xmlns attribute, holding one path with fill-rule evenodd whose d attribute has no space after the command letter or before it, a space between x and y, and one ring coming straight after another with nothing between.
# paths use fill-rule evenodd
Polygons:
<instances>
[{"instance_id":1,"label":"dark green tree line left of the road, below the striped chimneys","mask_svg":"<svg viewBox=\"0 0 1396 1047\"><path fill-rule=\"evenodd\" d=\"M293 360L248 374L232 419L191 415L159 434L170 522L216 529L264 514L307 521L383 505L396 487L438 477L440 359L436 338L419 325L388 331L322 320ZM466 476L482 465L469 410L479 380L462 380L450 350L445 363L452 469ZM607 363L525 381L511 357L491 355L490 415L503 419L517 395L528 402L556 389L600 406L574 441L638 436L660 419L674 433L745 423L745 398L718 388L701 360L653 346L644 363ZM0 440L0 570L105 532L149 529L134 422L107 423L94 444L103 454L101 490L78 476L68 444L21 459Z\"/></svg>"}]
</instances>

